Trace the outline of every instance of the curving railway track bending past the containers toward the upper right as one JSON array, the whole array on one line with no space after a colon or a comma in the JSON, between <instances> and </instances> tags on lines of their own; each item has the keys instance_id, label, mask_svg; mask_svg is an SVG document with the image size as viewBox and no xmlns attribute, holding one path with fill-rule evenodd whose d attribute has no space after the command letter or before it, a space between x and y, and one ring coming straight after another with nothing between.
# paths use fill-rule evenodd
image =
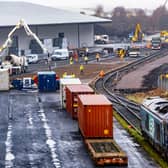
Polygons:
<instances>
[{"instance_id":1,"label":"curving railway track bending past the containers toward the upper right","mask_svg":"<svg viewBox=\"0 0 168 168\"><path fill-rule=\"evenodd\" d=\"M117 70L108 72L104 79L98 79L94 83L94 87L98 93L104 94L113 103L113 108L135 129L141 133L141 116L140 105L124 98L120 93L115 92L117 81L126 73L129 73L142 64L151 62L155 59L168 55L168 50L160 50L147 57L137 59Z\"/></svg>"}]
</instances>

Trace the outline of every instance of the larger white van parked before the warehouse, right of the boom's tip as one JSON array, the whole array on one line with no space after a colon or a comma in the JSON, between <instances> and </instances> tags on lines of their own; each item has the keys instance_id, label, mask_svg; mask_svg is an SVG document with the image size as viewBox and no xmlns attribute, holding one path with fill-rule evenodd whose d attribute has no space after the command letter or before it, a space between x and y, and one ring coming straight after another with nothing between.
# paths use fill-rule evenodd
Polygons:
<instances>
[{"instance_id":1,"label":"larger white van parked before the warehouse, right of the boom's tip","mask_svg":"<svg viewBox=\"0 0 168 168\"><path fill-rule=\"evenodd\" d=\"M68 49L56 49L51 55L51 60L68 59L68 58L69 58Z\"/></svg>"}]
</instances>

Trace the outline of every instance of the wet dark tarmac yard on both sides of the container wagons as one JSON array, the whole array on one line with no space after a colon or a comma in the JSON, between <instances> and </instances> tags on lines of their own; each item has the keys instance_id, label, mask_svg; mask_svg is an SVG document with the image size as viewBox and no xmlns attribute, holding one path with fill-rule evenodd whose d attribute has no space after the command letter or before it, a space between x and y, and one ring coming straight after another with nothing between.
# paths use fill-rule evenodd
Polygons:
<instances>
[{"instance_id":1,"label":"wet dark tarmac yard on both sides of the container wagons","mask_svg":"<svg viewBox=\"0 0 168 168\"><path fill-rule=\"evenodd\" d=\"M94 168L77 121L60 108L59 92L0 93L0 168ZM114 120L114 137L129 168L156 168Z\"/></svg>"}]
</instances>

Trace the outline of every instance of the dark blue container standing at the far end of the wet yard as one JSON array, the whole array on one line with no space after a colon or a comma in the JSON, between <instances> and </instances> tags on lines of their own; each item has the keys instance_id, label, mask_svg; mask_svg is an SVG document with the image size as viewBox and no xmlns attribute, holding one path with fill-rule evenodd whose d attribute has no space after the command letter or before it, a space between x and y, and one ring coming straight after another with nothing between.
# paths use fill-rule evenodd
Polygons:
<instances>
[{"instance_id":1,"label":"dark blue container standing at the far end of the wet yard","mask_svg":"<svg viewBox=\"0 0 168 168\"><path fill-rule=\"evenodd\" d=\"M39 92L56 91L56 73L53 71L38 72L38 90Z\"/></svg>"}]
</instances>

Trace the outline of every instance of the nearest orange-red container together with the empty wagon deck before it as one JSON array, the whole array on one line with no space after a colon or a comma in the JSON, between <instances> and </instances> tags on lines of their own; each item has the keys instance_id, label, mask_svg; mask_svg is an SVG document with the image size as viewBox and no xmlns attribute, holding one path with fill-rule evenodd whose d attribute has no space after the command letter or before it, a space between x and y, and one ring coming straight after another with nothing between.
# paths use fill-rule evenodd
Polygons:
<instances>
[{"instance_id":1,"label":"nearest orange-red container together with the empty wagon deck before it","mask_svg":"<svg viewBox=\"0 0 168 168\"><path fill-rule=\"evenodd\" d=\"M113 109L104 95L78 95L78 125L96 165L127 165L113 139Z\"/></svg>"}]
</instances>

